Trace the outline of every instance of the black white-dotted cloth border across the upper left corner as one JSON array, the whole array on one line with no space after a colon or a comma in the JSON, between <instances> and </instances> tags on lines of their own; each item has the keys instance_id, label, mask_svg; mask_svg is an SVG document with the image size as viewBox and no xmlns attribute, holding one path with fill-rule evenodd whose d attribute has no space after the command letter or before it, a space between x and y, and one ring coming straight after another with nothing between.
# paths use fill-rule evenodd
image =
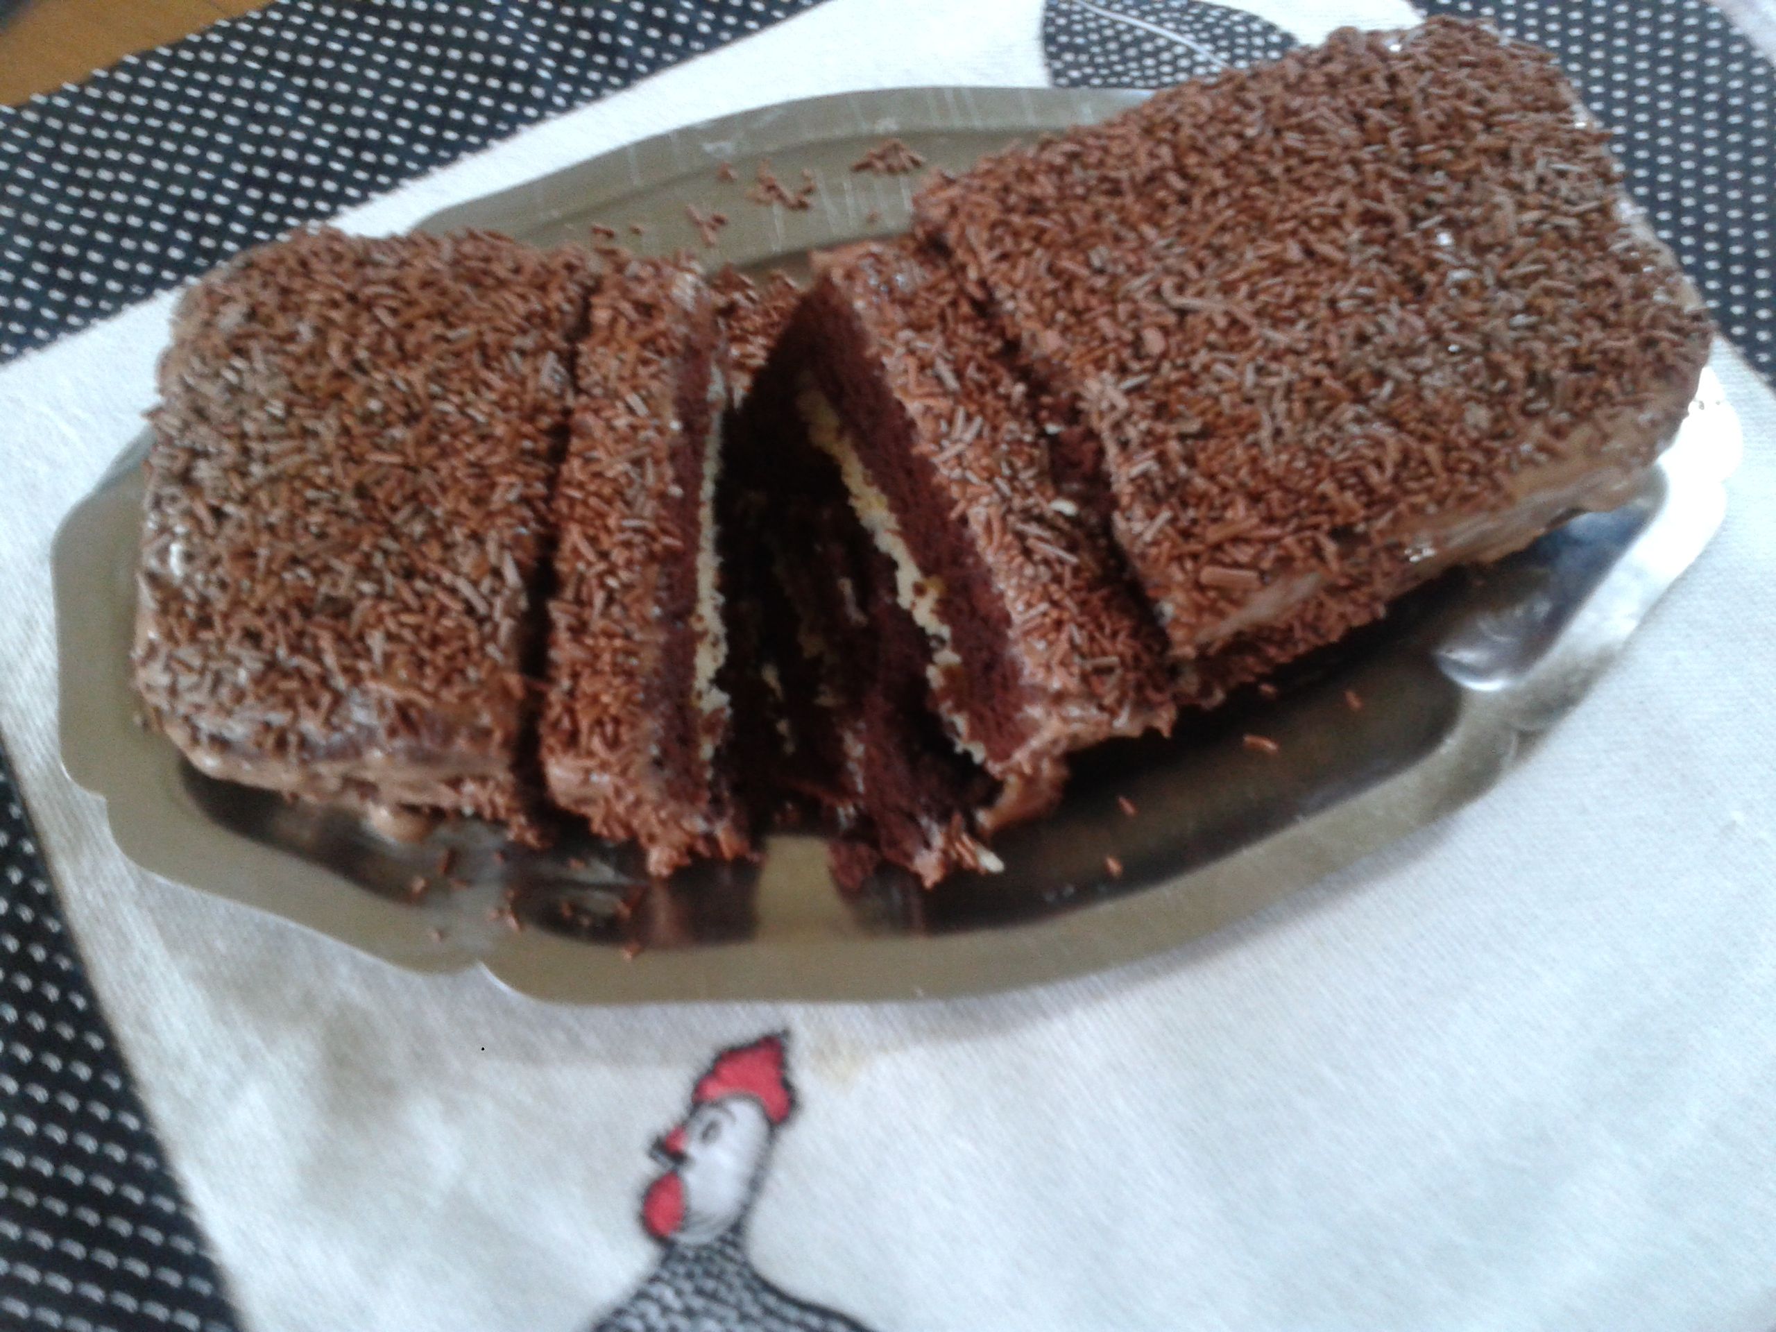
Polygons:
<instances>
[{"instance_id":1,"label":"black white-dotted cloth border across the upper left corner","mask_svg":"<svg viewBox=\"0 0 1776 1332\"><path fill-rule=\"evenodd\" d=\"M0 108L0 361L817 0L282 0Z\"/></svg>"}]
</instances>

